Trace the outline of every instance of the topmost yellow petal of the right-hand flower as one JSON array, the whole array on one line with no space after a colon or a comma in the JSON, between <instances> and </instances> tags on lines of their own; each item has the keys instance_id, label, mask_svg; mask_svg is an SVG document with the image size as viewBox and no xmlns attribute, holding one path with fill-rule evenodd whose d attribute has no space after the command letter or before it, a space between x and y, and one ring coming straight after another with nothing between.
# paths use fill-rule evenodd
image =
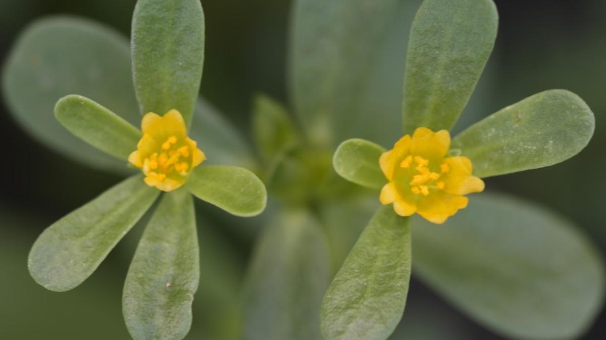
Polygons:
<instances>
[{"instance_id":1,"label":"topmost yellow petal of the right-hand flower","mask_svg":"<svg viewBox=\"0 0 606 340\"><path fill-rule=\"evenodd\" d=\"M428 128L417 128L410 143L410 152L427 159L441 159L450 148L450 133L446 130L433 132Z\"/></svg>"}]
</instances>

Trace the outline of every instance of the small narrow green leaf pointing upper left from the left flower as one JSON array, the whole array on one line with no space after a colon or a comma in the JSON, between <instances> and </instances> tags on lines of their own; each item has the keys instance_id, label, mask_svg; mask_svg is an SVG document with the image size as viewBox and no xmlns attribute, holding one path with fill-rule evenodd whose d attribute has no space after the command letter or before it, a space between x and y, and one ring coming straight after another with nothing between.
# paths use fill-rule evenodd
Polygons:
<instances>
[{"instance_id":1,"label":"small narrow green leaf pointing upper left from the left flower","mask_svg":"<svg viewBox=\"0 0 606 340\"><path fill-rule=\"evenodd\" d=\"M141 139L135 126L87 97L59 99L55 117L74 136L117 159L128 159Z\"/></svg>"}]
</instances>

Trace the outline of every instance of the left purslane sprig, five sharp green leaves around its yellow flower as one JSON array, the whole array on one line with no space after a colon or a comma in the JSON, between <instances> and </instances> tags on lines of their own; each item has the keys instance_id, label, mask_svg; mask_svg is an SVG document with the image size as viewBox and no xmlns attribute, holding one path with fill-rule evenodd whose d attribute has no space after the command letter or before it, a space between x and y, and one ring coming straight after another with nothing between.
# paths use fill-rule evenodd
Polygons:
<instances>
[{"instance_id":1,"label":"left purslane sprig, five sharp green leaves around its yellow flower","mask_svg":"<svg viewBox=\"0 0 606 340\"><path fill-rule=\"evenodd\" d=\"M267 194L247 169L201 165L205 154L187 136L204 60L200 2L141 0L132 33L142 131L78 95L60 99L55 116L72 134L145 176L127 178L48 227L33 245L28 267L47 289L73 289L165 192L128 270L123 312L135 339L180 339L190 329L199 282L191 195L248 217L263 211Z\"/></svg>"}]
</instances>

